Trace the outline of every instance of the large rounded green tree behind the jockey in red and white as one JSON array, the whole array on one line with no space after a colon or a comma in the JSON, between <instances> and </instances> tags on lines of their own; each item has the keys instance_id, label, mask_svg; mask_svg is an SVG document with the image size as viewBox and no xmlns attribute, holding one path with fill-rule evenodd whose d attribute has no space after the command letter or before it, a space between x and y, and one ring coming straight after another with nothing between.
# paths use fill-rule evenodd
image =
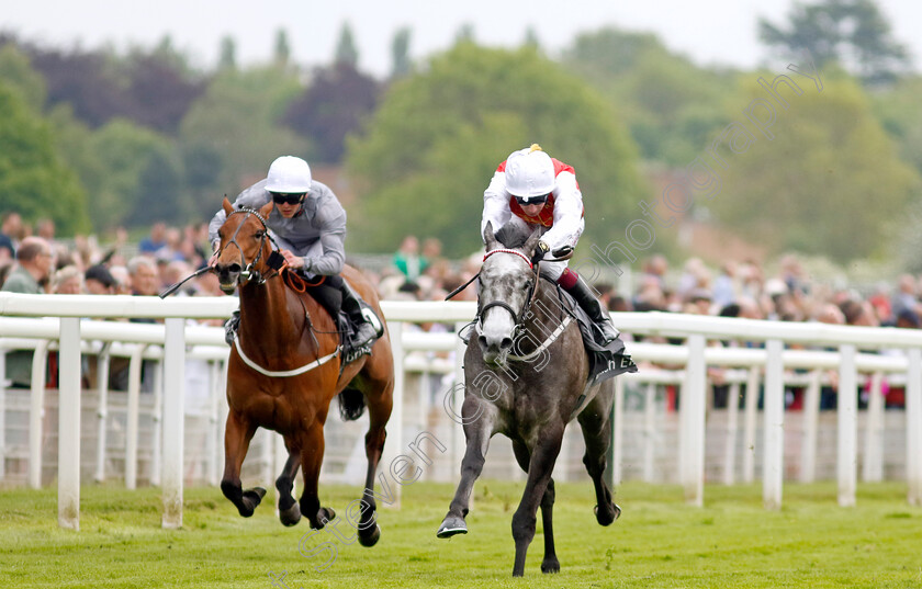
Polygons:
<instances>
[{"instance_id":1,"label":"large rounded green tree behind the jockey in red and white","mask_svg":"<svg viewBox=\"0 0 922 589\"><path fill-rule=\"evenodd\" d=\"M363 250L393 251L407 233L424 233L447 254L468 254L481 243L496 166L536 141L576 169L588 239L623 230L643 188L611 107L535 49L461 43L394 83L367 135L350 143L360 191L350 233Z\"/></svg>"}]
</instances>

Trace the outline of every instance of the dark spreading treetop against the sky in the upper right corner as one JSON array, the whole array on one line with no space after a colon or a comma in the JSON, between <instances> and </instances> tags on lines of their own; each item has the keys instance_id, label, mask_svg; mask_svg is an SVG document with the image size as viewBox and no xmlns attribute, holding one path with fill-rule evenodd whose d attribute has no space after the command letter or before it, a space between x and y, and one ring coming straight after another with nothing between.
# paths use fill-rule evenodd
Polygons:
<instances>
[{"instance_id":1,"label":"dark spreading treetop against the sky in the upper right corner","mask_svg":"<svg viewBox=\"0 0 922 589\"><path fill-rule=\"evenodd\" d=\"M909 66L909 54L891 34L874 0L796 3L787 27L758 21L763 43L792 57L805 53L823 68L837 63L865 83L892 82Z\"/></svg>"}]
</instances>

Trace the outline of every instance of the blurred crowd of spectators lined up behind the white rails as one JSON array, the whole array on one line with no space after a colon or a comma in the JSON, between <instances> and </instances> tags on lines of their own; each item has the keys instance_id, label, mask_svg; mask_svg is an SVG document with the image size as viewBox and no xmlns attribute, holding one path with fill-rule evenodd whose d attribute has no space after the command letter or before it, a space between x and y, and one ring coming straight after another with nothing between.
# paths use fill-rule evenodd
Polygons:
<instances>
[{"instance_id":1,"label":"blurred crowd of spectators lined up behind the white rails","mask_svg":"<svg viewBox=\"0 0 922 589\"><path fill-rule=\"evenodd\" d=\"M23 293L157 295L205 264L210 253L204 223L183 228L156 223L136 246L120 231L113 243L103 247L86 237L59 240L49 219L30 227L19 214L8 213L0 225L0 284L4 291ZM449 260L438 239L420 245L411 235L386 260L352 262L366 271L384 299L442 301L477 272L481 254ZM640 264L627 290L606 282L594 287L612 312L922 327L922 280L917 276L903 274L892 284L862 292L811 280L796 256L786 256L775 265L777 270L767 273L755 260L726 260L712 268L690 258L671 269L665 257L653 254ZM177 295L223 293L216 276L203 273L184 283ZM474 285L454 297L475 298ZM431 324L421 328L451 329ZM720 371L713 371L711 378L719 385ZM797 399L791 404L796 406Z\"/></svg>"}]
</instances>

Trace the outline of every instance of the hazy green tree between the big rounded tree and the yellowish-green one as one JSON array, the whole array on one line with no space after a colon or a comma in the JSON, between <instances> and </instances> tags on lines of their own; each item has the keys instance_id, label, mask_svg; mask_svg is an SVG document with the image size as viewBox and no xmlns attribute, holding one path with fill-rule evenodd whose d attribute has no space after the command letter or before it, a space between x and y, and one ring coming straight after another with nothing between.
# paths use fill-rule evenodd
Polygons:
<instances>
[{"instance_id":1,"label":"hazy green tree between the big rounded tree and the yellowish-green one","mask_svg":"<svg viewBox=\"0 0 922 589\"><path fill-rule=\"evenodd\" d=\"M644 159L686 166L727 123L734 75L699 68L653 34L582 34L563 63L618 107Z\"/></svg>"}]
</instances>

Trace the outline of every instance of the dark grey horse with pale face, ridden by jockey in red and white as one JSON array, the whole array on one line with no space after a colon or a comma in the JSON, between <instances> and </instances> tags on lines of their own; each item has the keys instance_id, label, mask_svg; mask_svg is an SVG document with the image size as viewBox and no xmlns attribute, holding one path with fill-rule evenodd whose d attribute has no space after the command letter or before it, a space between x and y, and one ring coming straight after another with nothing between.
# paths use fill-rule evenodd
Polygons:
<instances>
[{"instance_id":1,"label":"dark grey horse with pale face, ridden by jockey in red and white","mask_svg":"<svg viewBox=\"0 0 922 589\"><path fill-rule=\"evenodd\" d=\"M536 230L521 247L507 248L494 237L491 224L486 226L486 254L477 296L479 335L476 341L472 336L464 354L461 421L466 450L461 482L437 532L438 537L468 533L464 518L490 439L496 433L505 434L513 442L516 461L528 473L521 501L513 516L516 577L525 574L539 506L544 528L541 571L560 570L554 552L551 472L566 423L574 415L586 442L583 463L595 485L596 520L609 525L621 513L603 478L611 431L614 380L587 386L589 358L580 328L564 312L556 285L539 277L530 262L539 235Z\"/></svg>"}]
</instances>

